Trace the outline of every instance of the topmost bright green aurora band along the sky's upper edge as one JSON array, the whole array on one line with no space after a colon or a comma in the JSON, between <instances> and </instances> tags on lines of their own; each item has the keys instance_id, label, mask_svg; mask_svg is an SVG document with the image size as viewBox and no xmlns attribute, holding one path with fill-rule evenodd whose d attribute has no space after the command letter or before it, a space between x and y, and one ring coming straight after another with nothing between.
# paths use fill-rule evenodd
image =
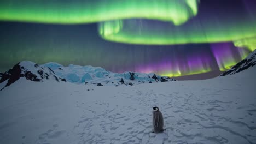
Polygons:
<instances>
[{"instance_id":1,"label":"topmost bright green aurora band along the sky's upper edge","mask_svg":"<svg viewBox=\"0 0 256 144\"><path fill-rule=\"evenodd\" d=\"M77 24L154 19L181 25L197 14L199 0L1 0L0 20Z\"/></svg>"}]
</instances>

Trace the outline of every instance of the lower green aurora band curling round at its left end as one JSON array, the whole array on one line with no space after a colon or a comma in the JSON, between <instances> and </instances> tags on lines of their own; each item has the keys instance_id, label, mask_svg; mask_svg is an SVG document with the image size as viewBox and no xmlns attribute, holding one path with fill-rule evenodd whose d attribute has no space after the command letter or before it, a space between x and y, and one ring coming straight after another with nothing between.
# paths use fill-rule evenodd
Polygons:
<instances>
[{"instance_id":1,"label":"lower green aurora band curling round at its left end","mask_svg":"<svg viewBox=\"0 0 256 144\"><path fill-rule=\"evenodd\" d=\"M157 25L148 24L154 22ZM127 44L173 45L236 41L236 46L245 47L241 45L249 44L246 47L254 50L255 24L256 20L191 20L181 26L174 26L170 22L130 19L101 22L98 31L103 39Z\"/></svg>"}]
</instances>

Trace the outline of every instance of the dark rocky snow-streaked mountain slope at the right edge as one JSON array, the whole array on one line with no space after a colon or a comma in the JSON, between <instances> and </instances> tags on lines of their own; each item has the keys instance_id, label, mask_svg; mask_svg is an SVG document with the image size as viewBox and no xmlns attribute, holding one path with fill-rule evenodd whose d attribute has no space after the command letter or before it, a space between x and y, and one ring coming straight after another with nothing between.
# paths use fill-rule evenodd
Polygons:
<instances>
[{"instance_id":1,"label":"dark rocky snow-streaked mountain slope at the right edge","mask_svg":"<svg viewBox=\"0 0 256 144\"><path fill-rule=\"evenodd\" d=\"M254 50L250 55L248 55L241 62L234 65L231 69L226 70L220 76L233 75L233 74L239 73L243 70L246 70L250 67L253 67L254 65L256 65L256 50Z\"/></svg>"}]
</instances>

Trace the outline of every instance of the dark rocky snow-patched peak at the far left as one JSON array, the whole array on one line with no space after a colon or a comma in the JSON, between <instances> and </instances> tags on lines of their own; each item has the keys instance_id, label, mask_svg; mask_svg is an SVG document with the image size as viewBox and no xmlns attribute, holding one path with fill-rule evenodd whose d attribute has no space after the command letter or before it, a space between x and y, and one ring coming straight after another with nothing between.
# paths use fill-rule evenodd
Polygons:
<instances>
[{"instance_id":1,"label":"dark rocky snow-patched peak at the far left","mask_svg":"<svg viewBox=\"0 0 256 144\"><path fill-rule=\"evenodd\" d=\"M0 83L4 83L4 87L1 87L0 91L19 80L20 77L25 77L27 80L31 81L66 81L55 75L54 71L48 67L42 67L30 61L22 61L5 73L0 74Z\"/></svg>"}]
</instances>

